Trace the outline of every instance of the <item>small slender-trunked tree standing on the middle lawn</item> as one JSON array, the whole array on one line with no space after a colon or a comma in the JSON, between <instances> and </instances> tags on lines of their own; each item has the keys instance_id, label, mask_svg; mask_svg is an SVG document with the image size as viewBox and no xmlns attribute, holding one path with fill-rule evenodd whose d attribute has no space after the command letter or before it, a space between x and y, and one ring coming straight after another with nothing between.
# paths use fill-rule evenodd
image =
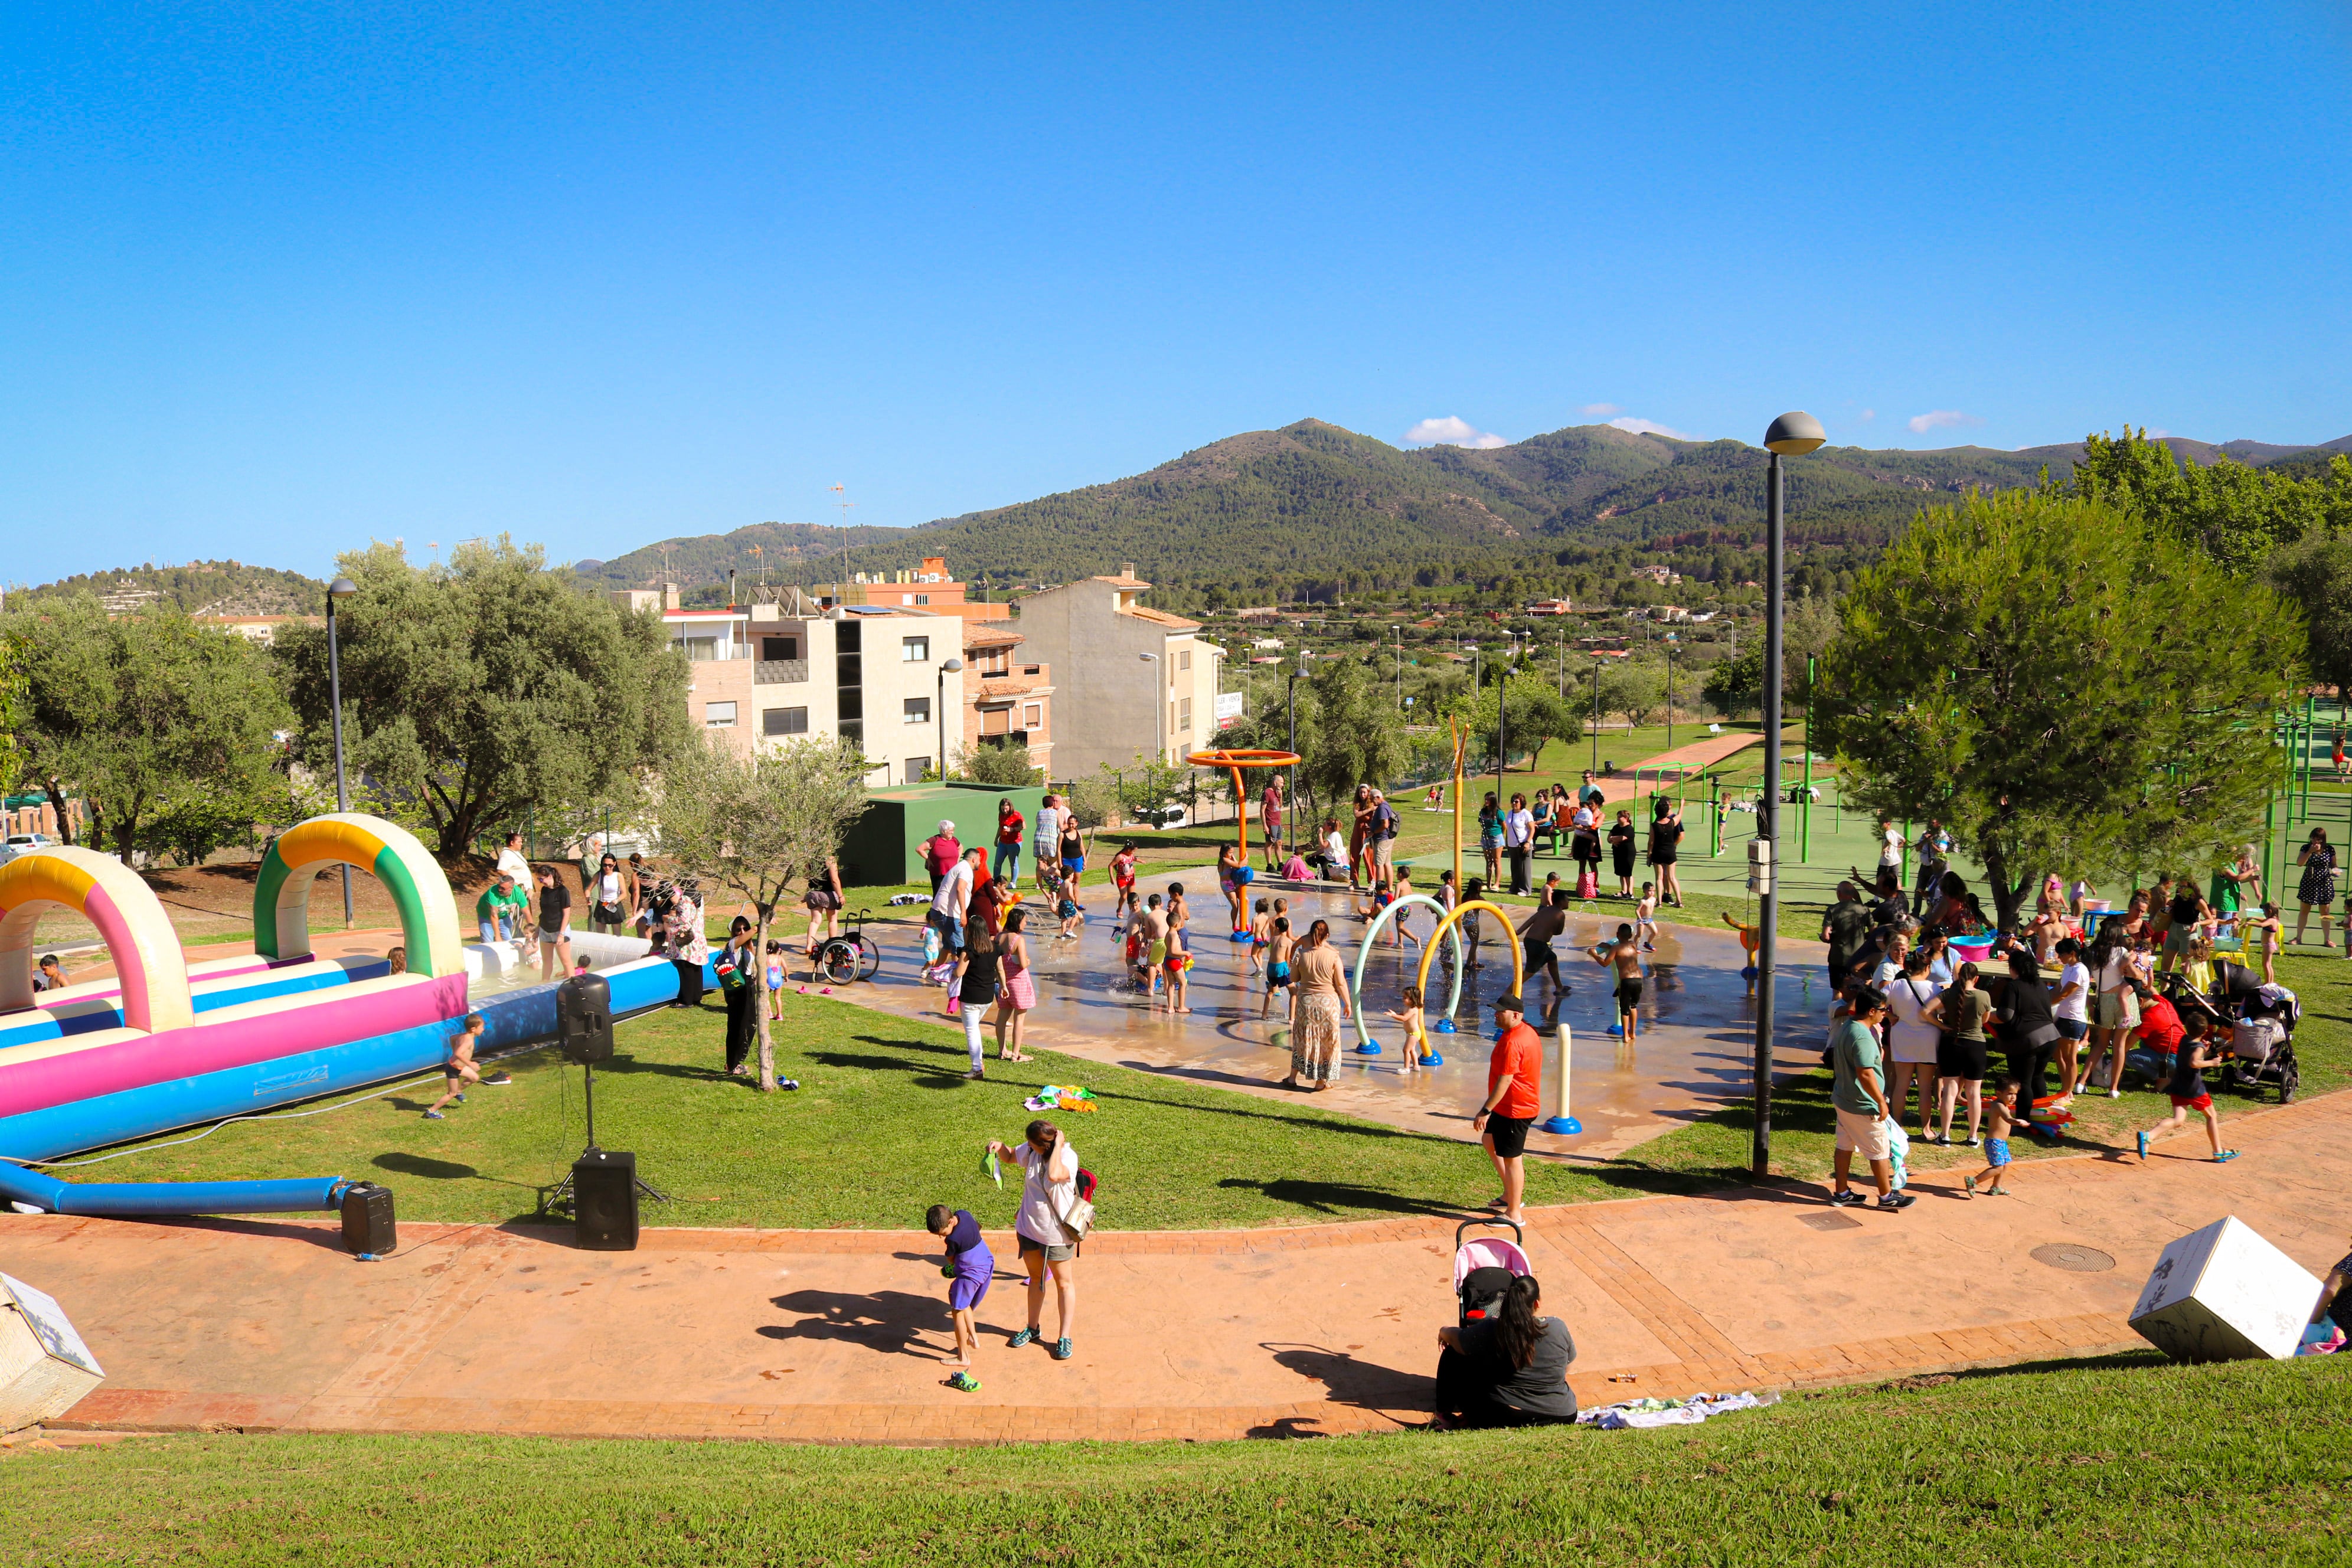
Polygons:
<instances>
[{"instance_id":1,"label":"small slender-trunked tree standing on the middle lawn","mask_svg":"<svg viewBox=\"0 0 2352 1568\"><path fill-rule=\"evenodd\" d=\"M790 741L757 757L687 745L661 773L661 851L706 884L741 893L753 912L753 952L764 954L786 896L840 853L863 809L866 759L842 741ZM776 1041L767 1009L753 1011L760 1091L774 1093Z\"/></svg>"}]
</instances>

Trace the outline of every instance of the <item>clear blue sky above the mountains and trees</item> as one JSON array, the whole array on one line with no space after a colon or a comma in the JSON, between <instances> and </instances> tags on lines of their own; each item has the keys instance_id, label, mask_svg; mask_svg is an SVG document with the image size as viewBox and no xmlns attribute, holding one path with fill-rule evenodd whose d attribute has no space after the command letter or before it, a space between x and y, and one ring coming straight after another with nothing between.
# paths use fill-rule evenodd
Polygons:
<instances>
[{"instance_id":1,"label":"clear blue sky above the mountains and trees","mask_svg":"<svg viewBox=\"0 0 2352 1568\"><path fill-rule=\"evenodd\" d=\"M1301 416L2331 440L2347 66L2319 0L7 7L0 578L913 524Z\"/></svg>"}]
</instances>

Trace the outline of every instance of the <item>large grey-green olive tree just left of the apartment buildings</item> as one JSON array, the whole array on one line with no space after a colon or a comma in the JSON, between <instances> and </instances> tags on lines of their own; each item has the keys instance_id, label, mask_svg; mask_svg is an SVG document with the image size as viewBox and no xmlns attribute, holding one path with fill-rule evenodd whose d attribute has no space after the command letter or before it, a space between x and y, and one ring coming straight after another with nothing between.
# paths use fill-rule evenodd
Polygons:
<instances>
[{"instance_id":1,"label":"large grey-green olive tree just left of the apartment buildings","mask_svg":"<svg viewBox=\"0 0 2352 1568\"><path fill-rule=\"evenodd\" d=\"M336 614L350 759L445 860L524 813L567 830L640 806L694 733L659 616L581 592L539 545L501 536L412 567L379 543L339 564L360 585ZM278 649L306 750L329 764L327 635L289 628Z\"/></svg>"}]
</instances>

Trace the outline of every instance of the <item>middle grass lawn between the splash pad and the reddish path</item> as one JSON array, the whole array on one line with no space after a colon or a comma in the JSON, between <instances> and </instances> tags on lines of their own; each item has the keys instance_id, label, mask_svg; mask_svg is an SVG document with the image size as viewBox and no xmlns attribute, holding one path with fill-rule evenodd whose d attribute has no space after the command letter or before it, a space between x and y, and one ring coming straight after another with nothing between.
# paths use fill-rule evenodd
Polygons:
<instances>
[{"instance_id":1,"label":"middle grass lawn between the splash pad and the reddish path","mask_svg":"<svg viewBox=\"0 0 2352 1568\"><path fill-rule=\"evenodd\" d=\"M960 1030L901 1020L816 994L788 994L779 1072L797 1093L762 1095L720 1072L724 1013L668 1009L619 1030L597 1070L597 1140L633 1150L668 1206L649 1225L915 1229L929 1204L969 1206L1011 1225L1018 1187L981 1175L988 1138L1016 1140L1042 1084L1084 1084L1101 1107L1061 1114L1103 1178L1108 1229L1214 1229L1298 1220L1454 1213L1494 1194L1475 1145L1404 1133L1176 1077L1033 1048L964 1081ZM1282 1056L1268 1051L1268 1070ZM247 1121L181 1147L66 1171L73 1180L216 1180L365 1175L395 1192L407 1220L499 1222L536 1211L583 1143L581 1072L553 1051L510 1058L508 1088L475 1088L447 1121L419 1112L440 1077L299 1121ZM322 1100L334 1105L336 1100ZM151 1143L167 1143L151 1140ZM1529 1201L1569 1204L1691 1192L1731 1180L1738 1159L1712 1135L1675 1135L1602 1171L1543 1166ZM1745 1145L1740 1145L1745 1150Z\"/></svg>"}]
</instances>

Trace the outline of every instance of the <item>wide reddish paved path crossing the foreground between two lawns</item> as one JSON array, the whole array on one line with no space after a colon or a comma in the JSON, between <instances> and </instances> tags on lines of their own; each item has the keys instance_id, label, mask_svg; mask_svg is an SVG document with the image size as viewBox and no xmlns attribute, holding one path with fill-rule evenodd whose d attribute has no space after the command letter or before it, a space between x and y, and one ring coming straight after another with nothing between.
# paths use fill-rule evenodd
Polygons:
<instances>
[{"instance_id":1,"label":"wide reddish paved path crossing the foreground between two lawns","mask_svg":"<svg viewBox=\"0 0 2352 1568\"><path fill-rule=\"evenodd\" d=\"M2124 1312L2157 1251L2223 1213L2314 1272L2340 1255L2352 1095L2230 1124L2232 1166L2178 1138L2145 1168L2032 1164L2011 1199L1966 1201L1938 1175L1900 1215L1830 1211L1813 1190L1552 1208L1529 1251L1576 1333L1585 1401L2105 1352L2136 1345ZM2037 1262L2051 1241L2117 1265ZM1021 1288L1000 1272L978 1314L985 1389L962 1396L941 1387L934 1246L903 1232L668 1229L637 1253L579 1253L548 1232L409 1225L400 1253L362 1265L310 1222L0 1218L0 1267L54 1293L108 1368L64 1422L99 1429L1395 1429L1425 1418L1449 1253L1442 1218L1103 1234L1077 1356L1007 1349Z\"/></svg>"}]
</instances>

